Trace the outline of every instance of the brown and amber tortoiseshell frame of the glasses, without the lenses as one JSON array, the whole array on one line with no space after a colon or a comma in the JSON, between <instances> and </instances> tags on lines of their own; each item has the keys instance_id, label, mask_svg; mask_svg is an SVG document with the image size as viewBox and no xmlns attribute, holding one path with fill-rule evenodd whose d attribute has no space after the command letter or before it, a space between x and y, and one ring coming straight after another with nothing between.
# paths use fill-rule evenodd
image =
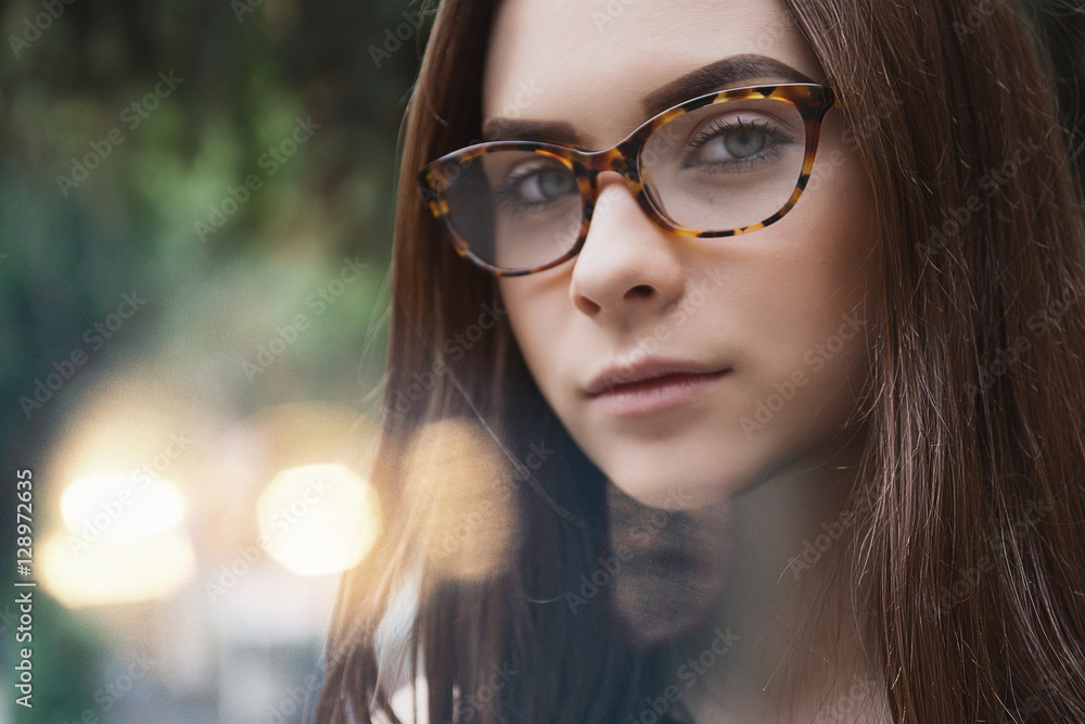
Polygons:
<instances>
[{"instance_id":1,"label":"brown and amber tortoiseshell frame of the glasses, without the lenses","mask_svg":"<svg viewBox=\"0 0 1085 724\"><path fill-rule=\"evenodd\" d=\"M661 127L679 118L680 116L705 106L715 106L722 103L735 101L754 101L761 99L787 103L797 111L802 118L805 131L805 148L801 168L795 175L794 187L790 196L783 205L775 209L767 218L760 219L753 224L748 224L739 228L728 229L703 229L678 224L664 208L660 199L653 198L658 192L650 188L652 185L643 182L642 154L649 139ZM550 269L562 264L579 253L588 236L588 227L591 223L592 212L598 198L597 179L604 170L613 170L625 178L626 186L635 195L640 207L649 218L659 226L681 237L690 238L716 238L730 237L741 233L749 233L757 229L765 228L782 218L799 201L809 180L814 167L814 158L817 154L818 138L820 136L821 122L825 114L835 103L832 89L817 84L773 84L748 86L742 88L731 88L728 90L699 96L684 103L679 103L659 115L653 116L642 124L635 131L629 134L625 140L610 149L601 151L586 151L583 149L560 145L557 143L545 143L534 141L494 141L489 143L476 143L459 151L446 154L436 161L426 164L419 172L418 179L423 200L429 206L433 216L441 223L445 234L452 242L460 256L471 261L480 267L487 269L498 277L515 277L545 269ZM765 104L762 104L764 107ZM748 140L748 139L740 139ZM667 147L664 147L667 148ZM557 258L546 263L524 266L519 268L507 268L499 266L496 259L480 256L472 247L471 241L464 239L457 228L452 216L456 213L449 205L446 191L456 182L464 168L470 168L471 164L483 156L493 153L508 151L527 152L528 154L539 154L547 158L547 163L558 163L564 168L562 172L571 172L579 187L582 200L582 213L579 219L579 231L572 245L560 253ZM797 151L797 149L796 149ZM532 157L526 155L525 157ZM573 193L572 190L569 191ZM496 256L496 254L495 254Z\"/></svg>"}]
</instances>

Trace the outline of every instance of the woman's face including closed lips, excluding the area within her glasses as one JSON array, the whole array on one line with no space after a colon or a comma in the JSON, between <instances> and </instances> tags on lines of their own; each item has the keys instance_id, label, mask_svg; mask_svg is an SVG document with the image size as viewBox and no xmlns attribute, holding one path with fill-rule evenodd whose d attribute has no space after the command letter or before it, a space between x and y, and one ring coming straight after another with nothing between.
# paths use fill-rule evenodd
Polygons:
<instances>
[{"instance_id":1,"label":"woman's face including closed lips, excluding the area within her glasses","mask_svg":"<svg viewBox=\"0 0 1085 724\"><path fill-rule=\"evenodd\" d=\"M787 64L795 77L723 79L688 98L822 77L778 0L506 0L486 65L484 122L563 122L577 145L607 148L651 115L643 98L740 54ZM532 136L522 140L553 140ZM824 459L854 412L876 264L869 182L842 136L832 109L794 209L732 238L664 230L605 172L580 254L501 279L542 395L596 465L641 503L685 507L676 490L722 499ZM608 369L615 378L596 385Z\"/></svg>"}]
</instances>

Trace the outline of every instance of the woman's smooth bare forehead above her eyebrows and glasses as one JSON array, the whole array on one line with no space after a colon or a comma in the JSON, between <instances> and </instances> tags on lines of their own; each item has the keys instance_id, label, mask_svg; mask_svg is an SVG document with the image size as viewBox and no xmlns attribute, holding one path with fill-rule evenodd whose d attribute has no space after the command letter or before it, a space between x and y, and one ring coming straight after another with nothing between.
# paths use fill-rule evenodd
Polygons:
<instances>
[{"instance_id":1,"label":"woman's smooth bare forehead above her eyebrows and glasses","mask_svg":"<svg viewBox=\"0 0 1085 724\"><path fill-rule=\"evenodd\" d=\"M737 55L821 78L781 0L503 0L483 77L484 125L564 122L583 144L602 148L651 115L653 91ZM748 80L789 79L797 78Z\"/></svg>"}]
</instances>

